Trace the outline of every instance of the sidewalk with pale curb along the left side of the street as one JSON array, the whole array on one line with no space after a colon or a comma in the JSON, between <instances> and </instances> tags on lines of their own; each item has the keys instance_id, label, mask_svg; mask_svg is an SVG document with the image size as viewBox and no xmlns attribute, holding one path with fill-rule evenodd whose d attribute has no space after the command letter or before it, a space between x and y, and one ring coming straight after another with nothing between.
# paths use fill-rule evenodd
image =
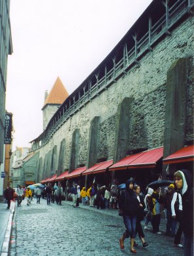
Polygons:
<instances>
[{"instance_id":1,"label":"sidewalk with pale curb along the left side of the street","mask_svg":"<svg viewBox=\"0 0 194 256\"><path fill-rule=\"evenodd\" d=\"M0 255L7 256L9 253L10 234L12 229L12 219L14 217L15 203L10 203L10 209L7 209L7 203L0 202Z\"/></svg>"}]
</instances>

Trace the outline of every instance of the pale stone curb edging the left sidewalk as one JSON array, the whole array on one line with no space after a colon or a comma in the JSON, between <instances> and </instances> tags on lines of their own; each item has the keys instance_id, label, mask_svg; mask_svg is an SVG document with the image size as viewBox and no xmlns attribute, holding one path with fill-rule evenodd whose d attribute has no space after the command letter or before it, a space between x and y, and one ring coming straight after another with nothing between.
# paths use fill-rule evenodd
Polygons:
<instances>
[{"instance_id":1,"label":"pale stone curb edging the left sidewalk","mask_svg":"<svg viewBox=\"0 0 194 256\"><path fill-rule=\"evenodd\" d=\"M10 214L9 214L9 220L7 223L7 228L5 231L5 238L3 241L3 245L1 248L1 256L8 256L9 253L9 245L10 245L10 235L12 231L12 219L14 217L16 204L14 202L10 203Z\"/></svg>"}]
</instances>

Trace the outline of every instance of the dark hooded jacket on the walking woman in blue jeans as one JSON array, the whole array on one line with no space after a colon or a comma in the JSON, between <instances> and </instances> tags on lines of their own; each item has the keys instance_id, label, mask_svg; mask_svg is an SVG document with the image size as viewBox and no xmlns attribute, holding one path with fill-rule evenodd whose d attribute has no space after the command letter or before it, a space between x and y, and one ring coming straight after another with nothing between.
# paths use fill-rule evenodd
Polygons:
<instances>
[{"instance_id":1,"label":"dark hooded jacket on the walking woman in blue jeans","mask_svg":"<svg viewBox=\"0 0 194 256\"><path fill-rule=\"evenodd\" d=\"M124 215L135 216L140 209L140 202L133 189L129 188L131 179L126 181L126 190L121 194L121 208L123 208Z\"/></svg>"}]
</instances>

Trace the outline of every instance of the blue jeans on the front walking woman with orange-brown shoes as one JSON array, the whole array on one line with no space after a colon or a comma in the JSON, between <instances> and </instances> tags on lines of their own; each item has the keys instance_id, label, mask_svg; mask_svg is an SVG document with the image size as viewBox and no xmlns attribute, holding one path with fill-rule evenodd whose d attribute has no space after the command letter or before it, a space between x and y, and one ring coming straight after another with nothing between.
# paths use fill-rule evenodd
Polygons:
<instances>
[{"instance_id":1,"label":"blue jeans on the front walking woman with orange-brown shoes","mask_svg":"<svg viewBox=\"0 0 194 256\"><path fill-rule=\"evenodd\" d=\"M123 215L123 222L126 227L126 238L129 236L131 238L136 237L136 216L128 216L128 215Z\"/></svg>"}]
</instances>

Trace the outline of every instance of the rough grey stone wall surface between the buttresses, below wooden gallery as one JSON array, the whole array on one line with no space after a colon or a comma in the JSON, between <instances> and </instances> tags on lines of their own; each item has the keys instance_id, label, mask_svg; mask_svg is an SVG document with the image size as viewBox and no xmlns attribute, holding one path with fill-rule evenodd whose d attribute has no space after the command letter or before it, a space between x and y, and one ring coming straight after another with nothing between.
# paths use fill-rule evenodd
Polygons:
<instances>
[{"instance_id":1,"label":"rough grey stone wall surface between the buttresses, below wooden gallery","mask_svg":"<svg viewBox=\"0 0 194 256\"><path fill-rule=\"evenodd\" d=\"M79 129L78 165L86 165L90 121L100 117L97 158L112 159L115 142L117 107L125 97L133 98L130 123L128 124L128 150L156 148L163 146L165 129L166 74L170 65L178 58L189 58L193 65L194 22L190 16L171 35L160 41L152 51L147 52L135 66L103 93L94 97L84 108L76 112L54 133L49 142L39 149L39 157L45 156L55 147L56 169L62 165L69 169L71 142L75 129ZM192 68L190 69L192 70ZM187 81L187 131L186 141L193 140L193 73ZM60 156L60 144L64 140L65 156ZM57 153L56 153L57 152ZM60 163L58 163L58 161ZM44 163L44 166L46 164ZM44 167L45 168L45 167ZM46 170L50 173L52 170ZM61 171L60 171L61 172ZM44 175L43 175L44 176Z\"/></svg>"}]
</instances>

